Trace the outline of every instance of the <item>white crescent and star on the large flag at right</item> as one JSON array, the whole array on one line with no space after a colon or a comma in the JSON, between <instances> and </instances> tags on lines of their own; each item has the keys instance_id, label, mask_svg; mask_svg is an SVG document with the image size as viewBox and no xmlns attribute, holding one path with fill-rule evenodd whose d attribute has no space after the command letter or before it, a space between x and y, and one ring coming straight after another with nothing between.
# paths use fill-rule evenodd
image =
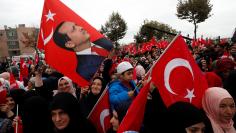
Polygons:
<instances>
[{"instance_id":1,"label":"white crescent and star on the large flag at right","mask_svg":"<svg viewBox=\"0 0 236 133\"><path fill-rule=\"evenodd\" d=\"M165 67L165 70L164 70L164 84L165 84L167 91L173 95L178 95L178 94L175 93L172 90L172 88L170 87L169 79L170 79L171 72L177 67L187 68L190 71L190 73L193 77L193 80L194 80L192 67L187 60L185 60L183 58L174 58L171 61L169 61ZM190 103L192 102L192 98L195 97L195 95L193 93L194 93L194 89L192 89L191 91L189 89L187 89L187 95L184 97L184 98L189 98Z\"/></svg>"}]
</instances>

